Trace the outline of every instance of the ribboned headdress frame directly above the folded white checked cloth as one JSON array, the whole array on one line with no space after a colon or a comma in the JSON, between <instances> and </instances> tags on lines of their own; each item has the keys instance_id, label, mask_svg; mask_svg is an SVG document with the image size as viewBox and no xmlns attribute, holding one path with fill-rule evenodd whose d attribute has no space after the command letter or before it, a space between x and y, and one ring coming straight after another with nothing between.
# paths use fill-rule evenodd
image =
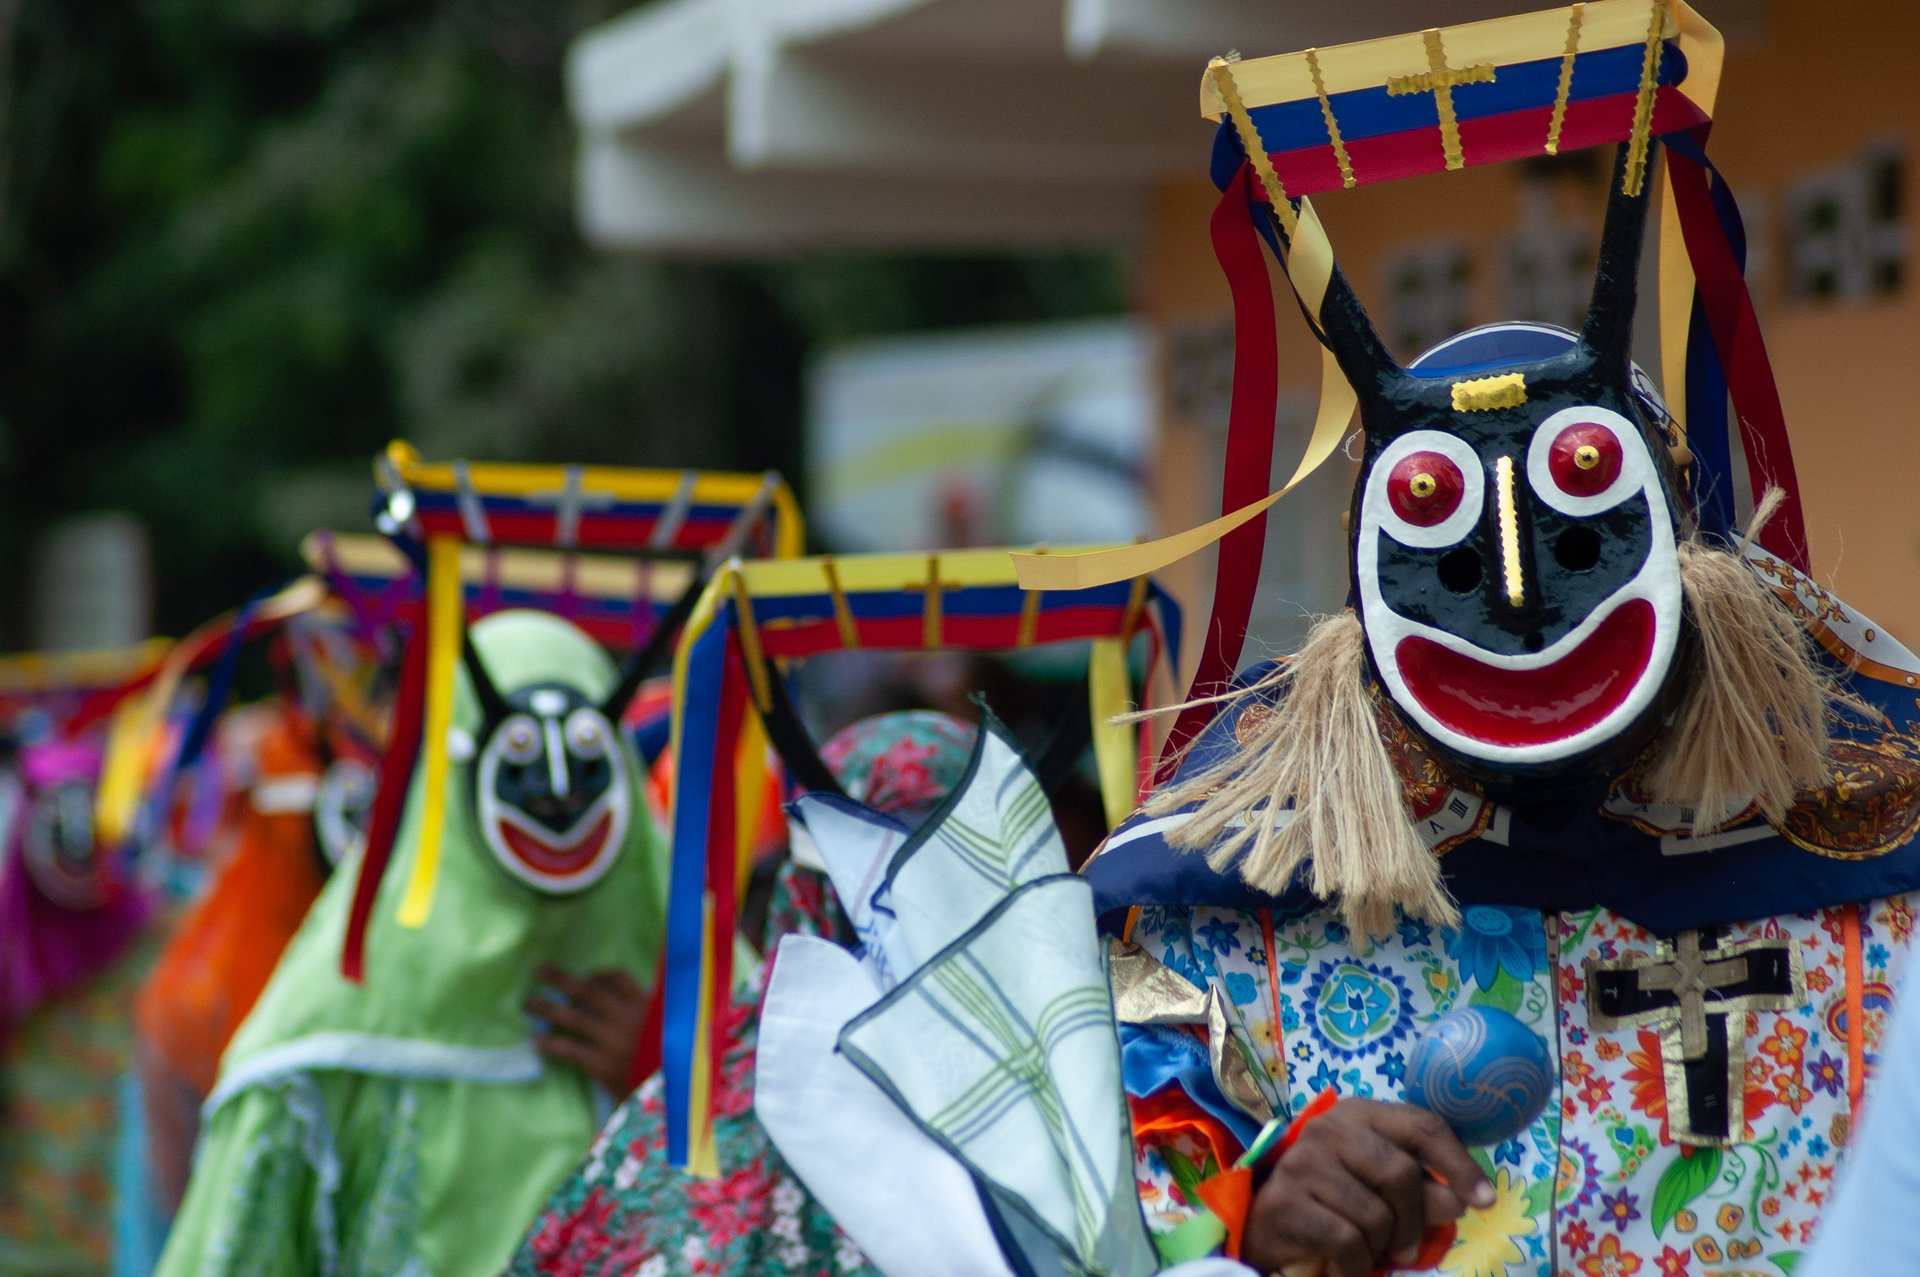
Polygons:
<instances>
[{"instance_id":1,"label":"ribboned headdress frame directly above the folded white checked cloth","mask_svg":"<svg viewBox=\"0 0 1920 1277\"><path fill-rule=\"evenodd\" d=\"M745 807L764 760L762 716L780 663L831 651L1016 651L1091 641L1094 755L1108 814L1131 810L1142 780L1127 709L1127 643L1150 664L1179 643L1173 599L1148 580L1031 591L1008 551L814 557L728 565L708 584L674 655L674 830L662 970L668 1156L714 1173L712 1081L724 1050L733 910L745 878Z\"/></svg>"}]
</instances>

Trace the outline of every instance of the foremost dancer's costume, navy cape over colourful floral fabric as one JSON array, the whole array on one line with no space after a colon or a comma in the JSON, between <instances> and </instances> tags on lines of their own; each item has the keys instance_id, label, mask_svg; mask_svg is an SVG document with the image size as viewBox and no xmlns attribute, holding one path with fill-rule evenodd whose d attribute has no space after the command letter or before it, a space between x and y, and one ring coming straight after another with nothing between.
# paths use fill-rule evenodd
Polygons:
<instances>
[{"instance_id":1,"label":"foremost dancer's costume, navy cape over colourful floral fabric","mask_svg":"<svg viewBox=\"0 0 1920 1277\"><path fill-rule=\"evenodd\" d=\"M1116 964L1116 993L1133 1020L1121 1037L1150 1225L1194 1216L1198 1185L1269 1116L1329 1089L1402 1098L1425 1027L1476 1004L1534 1029L1557 1081L1524 1135L1475 1150L1500 1198L1459 1221L1438 1271L1791 1275L1912 949L1920 707L1903 687L1920 659L1905 661L1849 682L1885 718L1843 726L1843 783L1776 824L1749 812L1699 837L1638 801L1630 776L1515 808L1453 787L1402 735L1407 805L1463 906L1457 929L1400 918L1367 943L1302 889L1265 897L1171 851L1165 818L1121 826L1087 874L1135 958ZM1238 712L1188 766L1227 747ZM1127 985L1162 968L1217 991L1225 1052L1165 993L1162 1016L1129 1004Z\"/></svg>"}]
</instances>

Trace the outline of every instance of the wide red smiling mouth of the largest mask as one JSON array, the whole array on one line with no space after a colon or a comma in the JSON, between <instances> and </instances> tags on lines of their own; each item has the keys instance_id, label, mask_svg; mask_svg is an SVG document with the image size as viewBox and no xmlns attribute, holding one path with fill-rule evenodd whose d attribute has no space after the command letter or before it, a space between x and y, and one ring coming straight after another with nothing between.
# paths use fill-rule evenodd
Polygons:
<instances>
[{"instance_id":1,"label":"wide red smiling mouth of the largest mask","mask_svg":"<svg viewBox=\"0 0 1920 1277\"><path fill-rule=\"evenodd\" d=\"M1653 605L1630 599L1578 647L1534 670L1501 670L1405 638L1394 649L1413 699L1440 726L1475 741L1519 749L1586 732L1617 711L1653 659Z\"/></svg>"}]
</instances>

